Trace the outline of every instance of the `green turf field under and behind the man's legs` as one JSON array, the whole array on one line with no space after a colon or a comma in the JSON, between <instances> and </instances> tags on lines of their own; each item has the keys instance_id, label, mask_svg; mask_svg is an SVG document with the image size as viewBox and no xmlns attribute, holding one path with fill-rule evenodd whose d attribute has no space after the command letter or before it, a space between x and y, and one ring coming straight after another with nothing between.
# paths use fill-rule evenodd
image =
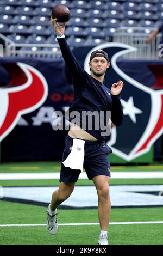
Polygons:
<instances>
[{"instance_id":1,"label":"green turf field under and behind the man's legs","mask_svg":"<svg viewBox=\"0 0 163 256\"><path fill-rule=\"evenodd\" d=\"M0 173L59 172L59 163L8 163L0 164ZM153 166L118 166L112 172L162 171L160 164ZM112 179L111 184L163 184L163 179ZM1 186L52 186L58 180L0 180ZM78 185L92 185L92 181L79 180ZM42 191L43 193L43 191ZM46 207L24 203L0 201L0 245L97 245L99 225L80 223L98 223L97 209L59 209L59 229L55 236L46 230ZM114 208L111 210L109 226L110 245L163 245L162 207ZM121 222L121 223L120 223ZM123 224L129 222L130 224ZM71 224L76 225L71 225ZM22 224L7 227L4 225ZM24 224L35 224L24 226ZM38 225L41 224L41 225ZM67 225L64 225L67 224ZM80 225L79 225L80 224ZM3 226L2 226L3 225Z\"/></svg>"}]
</instances>

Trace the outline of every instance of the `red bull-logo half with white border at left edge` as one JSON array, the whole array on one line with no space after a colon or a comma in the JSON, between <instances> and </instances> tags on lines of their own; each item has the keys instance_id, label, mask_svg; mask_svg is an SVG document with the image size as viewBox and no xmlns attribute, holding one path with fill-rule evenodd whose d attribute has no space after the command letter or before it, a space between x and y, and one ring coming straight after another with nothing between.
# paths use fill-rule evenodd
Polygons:
<instances>
[{"instance_id":1,"label":"red bull-logo half with white border at left edge","mask_svg":"<svg viewBox=\"0 0 163 256\"><path fill-rule=\"evenodd\" d=\"M21 115L39 108L48 95L47 82L38 70L24 63L17 65L26 75L26 82L0 88L0 141L14 129Z\"/></svg>"}]
</instances>

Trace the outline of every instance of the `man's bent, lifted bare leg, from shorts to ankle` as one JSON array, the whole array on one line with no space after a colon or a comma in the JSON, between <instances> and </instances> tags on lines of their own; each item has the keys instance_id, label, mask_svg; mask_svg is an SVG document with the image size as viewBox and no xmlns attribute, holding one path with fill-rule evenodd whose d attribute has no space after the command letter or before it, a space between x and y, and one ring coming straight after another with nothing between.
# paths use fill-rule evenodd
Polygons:
<instances>
[{"instance_id":1,"label":"man's bent, lifted bare leg, from shorts to ankle","mask_svg":"<svg viewBox=\"0 0 163 256\"><path fill-rule=\"evenodd\" d=\"M68 197L70 197L73 192L75 182L61 182L59 189L54 191L52 195L52 201L50 209L54 211L62 202L64 202Z\"/></svg>"}]
</instances>

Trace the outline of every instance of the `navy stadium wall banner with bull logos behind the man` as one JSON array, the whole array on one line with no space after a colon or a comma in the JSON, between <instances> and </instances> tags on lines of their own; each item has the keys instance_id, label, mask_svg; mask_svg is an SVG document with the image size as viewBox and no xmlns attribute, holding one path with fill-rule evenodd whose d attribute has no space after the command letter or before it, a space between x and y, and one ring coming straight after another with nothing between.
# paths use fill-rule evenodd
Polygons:
<instances>
[{"instance_id":1,"label":"navy stadium wall banner with bull logos behind the man","mask_svg":"<svg viewBox=\"0 0 163 256\"><path fill-rule=\"evenodd\" d=\"M74 51L87 72L96 48L108 52L111 62L105 85L124 82L123 124L113 127L108 138L112 162L151 162L152 145L163 132L162 75L156 68L161 70L163 61L129 61L122 56L134 47L106 43ZM60 161L69 124L64 121L66 130L57 130L63 121L58 112L64 114L73 100L72 78L63 60L0 58L0 84L2 161Z\"/></svg>"}]
</instances>

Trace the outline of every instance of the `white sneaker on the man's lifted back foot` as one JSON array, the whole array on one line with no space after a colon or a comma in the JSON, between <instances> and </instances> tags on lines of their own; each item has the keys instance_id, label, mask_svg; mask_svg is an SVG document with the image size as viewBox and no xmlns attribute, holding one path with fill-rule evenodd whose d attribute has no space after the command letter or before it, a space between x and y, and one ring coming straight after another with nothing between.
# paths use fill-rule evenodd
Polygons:
<instances>
[{"instance_id":1,"label":"white sneaker on the man's lifted back foot","mask_svg":"<svg viewBox=\"0 0 163 256\"><path fill-rule=\"evenodd\" d=\"M57 222L57 209L55 209L55 213L53 215L50 215L49 210L50 205L47 209L47 230L51 235L55 235L58 230L58 222Z\"/></svg>"}]
</instances>

